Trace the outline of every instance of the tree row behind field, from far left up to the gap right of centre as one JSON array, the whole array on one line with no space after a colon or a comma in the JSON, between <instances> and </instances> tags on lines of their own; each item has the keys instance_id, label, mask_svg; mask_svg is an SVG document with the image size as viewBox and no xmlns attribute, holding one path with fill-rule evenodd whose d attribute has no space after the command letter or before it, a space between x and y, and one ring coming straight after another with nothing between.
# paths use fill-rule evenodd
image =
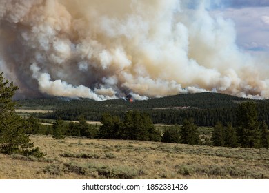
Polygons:
<instances>
[{"instance_id":1,"label":"tree row behind field, from far left up to the gap right of centre","mask_svg":"<svg viewBox=\"0 0 269 193\"><path fill-rule=\"evenodd\" d=\"M57 119L52 125L41 125L33 116L26 121L31 125L31 134L52 135L55 139L63 139L65 136L82 136L95 139L159 141L190 145L201 143L198 126L195 125L194 119L186 119L182 127L175 125L162 131L155 127L148 114L138 110L126 112L124 119L108 112L103 113L100 126L88 124L83 117L78 123L73 121L67 123L62 119ZM178 133L173 132L174 130Z\"/></svg>"}]
</instances>

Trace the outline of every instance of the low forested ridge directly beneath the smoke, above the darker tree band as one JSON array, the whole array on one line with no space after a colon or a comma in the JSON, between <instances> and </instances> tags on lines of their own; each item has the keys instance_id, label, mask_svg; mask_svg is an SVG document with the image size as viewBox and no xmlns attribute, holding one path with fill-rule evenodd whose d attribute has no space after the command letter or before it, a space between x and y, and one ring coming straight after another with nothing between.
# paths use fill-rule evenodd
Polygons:
<instances>
[{"instance_id":1,"label":"low forested ridge directly beneath the smoke, above the darker tree band","mask_svg":"<svg viewBox=\"0 0 269 193\"><path fill-rule=\"evenodd\" d=\"M19 100L21 108L50 109L63 108L68 105L70 108L76 106L87 107L113 107L113 108L172 108L172 107L193 107L193 108L219 108L233 107L235 101L246 101L250 99L239 98L228 94L217 94L211 92L197 94L178 94L175 96L166 96L161 98L148 99L146 101L135 101L128 105L128 101L123 99L114 99L108 101L93 101L92 99L68 99L65 97L48 97L41 99L23 99Z\"/></svg>"}]
</instances>

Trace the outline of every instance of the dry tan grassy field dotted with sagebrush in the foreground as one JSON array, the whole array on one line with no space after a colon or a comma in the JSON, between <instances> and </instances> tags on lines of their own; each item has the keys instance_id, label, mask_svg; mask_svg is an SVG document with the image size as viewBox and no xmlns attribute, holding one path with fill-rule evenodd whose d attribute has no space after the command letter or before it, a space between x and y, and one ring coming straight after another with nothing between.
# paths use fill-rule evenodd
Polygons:
<instances>
[{"instance_id":1,"label":"dry tan grassy field dotted with sagebrush in the foreground","mask_svg":"<svg viewBox=\"0 0 269 193\"><path fill-rule=\"evenodd\" d=\"M269 150L31 136L42 159L0 154L1 179L269 179Z\"/></svg>"}]
</instances>

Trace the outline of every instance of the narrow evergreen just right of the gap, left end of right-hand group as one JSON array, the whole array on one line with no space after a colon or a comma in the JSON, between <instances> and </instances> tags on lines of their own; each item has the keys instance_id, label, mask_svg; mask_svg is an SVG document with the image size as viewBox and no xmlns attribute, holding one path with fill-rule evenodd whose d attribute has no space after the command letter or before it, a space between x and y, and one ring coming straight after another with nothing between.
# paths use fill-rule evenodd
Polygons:
<instances>
[{"instance_id":1,"label":"narrow evergreen just right of the gap, left end of right-hand group","mask_svg":"<svg viewBox=\"0 0 269 193\"><path fill-rule=\"evenodd\" d=\"M212 144L215 146L224 146L225 132L224 127L220 122L217 122L217 124L215 125L211 140Z\"/></svg>"}]
</instances>

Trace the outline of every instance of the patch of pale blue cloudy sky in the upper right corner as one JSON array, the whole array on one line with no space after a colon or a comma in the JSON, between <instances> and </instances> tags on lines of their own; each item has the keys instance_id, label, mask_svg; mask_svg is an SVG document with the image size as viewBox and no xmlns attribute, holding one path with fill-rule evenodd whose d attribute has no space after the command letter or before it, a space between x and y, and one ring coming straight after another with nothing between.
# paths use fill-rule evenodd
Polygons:
<instances>
[{"instance_id":1,"label":"patch of pale blue cloudy sky in the upper right corner","mask_svg":"<svg viewBox=\"0 0 269 193\"><path fill-rule=\"evenodd\" d=\"M234 21L239 48L269 53L269 0L212 0L210 12Z\"/></svg>"}]
</instances>

